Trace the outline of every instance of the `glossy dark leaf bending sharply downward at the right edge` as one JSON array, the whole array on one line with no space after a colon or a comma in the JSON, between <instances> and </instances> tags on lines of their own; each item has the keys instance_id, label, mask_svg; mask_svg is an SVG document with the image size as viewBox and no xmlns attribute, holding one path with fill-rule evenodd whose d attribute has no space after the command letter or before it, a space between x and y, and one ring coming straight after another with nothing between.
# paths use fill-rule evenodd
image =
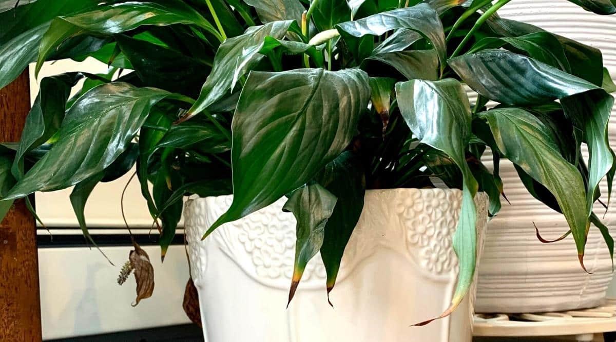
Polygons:
<instances>
[{"instance_id":1,"label":"glossy dark leaf bending sharply downward at the right edge","mask_svg":"<svg viewBox=\"0 0 616 342\"><path fill-rule=\"evenodd\" d=\"M450 59L449 64L472 89L500 103L533 105L561 100L565 115L585 133L588 142L590 175L585 208L590 215L599 181L614 162L607 141L614 98L584 79L505 50L463 55ZM576 241L578 252L582 253L580 236L576 236Z\"/></svg>"}]
</instances>

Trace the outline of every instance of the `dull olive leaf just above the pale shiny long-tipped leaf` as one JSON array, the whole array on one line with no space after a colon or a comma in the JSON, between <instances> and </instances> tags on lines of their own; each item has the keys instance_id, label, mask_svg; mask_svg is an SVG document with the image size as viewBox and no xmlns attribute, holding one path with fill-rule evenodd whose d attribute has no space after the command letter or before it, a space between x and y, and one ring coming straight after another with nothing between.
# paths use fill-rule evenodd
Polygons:
<instances>
[{"instance_id":1,"label":"dull olive leaf just above the pale shiny long-tipped leaf","mask_svg":"<svg viewBox=\"0 0 616 342\"><path fill-rule=\"evenodd\" d=\"M386 52L371 55L368 60L391 65L407 79L439 79L439 57L434 50Z\"/></svg>"}]
</instances>

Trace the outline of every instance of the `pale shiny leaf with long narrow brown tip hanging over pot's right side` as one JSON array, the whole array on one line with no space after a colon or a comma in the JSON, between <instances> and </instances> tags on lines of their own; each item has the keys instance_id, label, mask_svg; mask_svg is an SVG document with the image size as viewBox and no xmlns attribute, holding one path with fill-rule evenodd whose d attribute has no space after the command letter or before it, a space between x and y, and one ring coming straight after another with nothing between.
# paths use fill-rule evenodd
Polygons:
<instances>
[{"instance_id":1,"label":"pale shiny leaf with long narrow brown tip hanging over pot's right side","mask_svg":"<svg viewBox=\"0 0 616 342\"><path fill-rule=\"evenodd\" d=\"M453 236L453 249L460 261L460 273L452 303L439 317L442 318L451 314L468 293L477 260L474 197L478 185L466 164L465 154L471 137L471 108L462 84L455 79L398 83L395 92L400 113L411 132L421 143L447 154L458 165L463 176L460 220ZM419 325L429 322L431 320Z\"/></svg>"}]
</instances>

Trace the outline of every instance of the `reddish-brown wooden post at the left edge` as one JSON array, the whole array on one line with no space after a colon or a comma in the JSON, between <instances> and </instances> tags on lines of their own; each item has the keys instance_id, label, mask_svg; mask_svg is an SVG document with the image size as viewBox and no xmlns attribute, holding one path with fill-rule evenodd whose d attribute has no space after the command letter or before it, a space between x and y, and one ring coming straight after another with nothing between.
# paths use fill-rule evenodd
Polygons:
<instances>
[{"instance_id":1,"label":"reddish-brown wooden post at the left edge","mask_svg":"<svg viewBox=\"0 0 616 342\"><path fill-rule=\"evenodd\" d=\"M0 141L18 141L30 111L28 70L0 90ZM0 223L0 341L41 341L36 225L23 200Z\"/></svg>"}]
</instances>

